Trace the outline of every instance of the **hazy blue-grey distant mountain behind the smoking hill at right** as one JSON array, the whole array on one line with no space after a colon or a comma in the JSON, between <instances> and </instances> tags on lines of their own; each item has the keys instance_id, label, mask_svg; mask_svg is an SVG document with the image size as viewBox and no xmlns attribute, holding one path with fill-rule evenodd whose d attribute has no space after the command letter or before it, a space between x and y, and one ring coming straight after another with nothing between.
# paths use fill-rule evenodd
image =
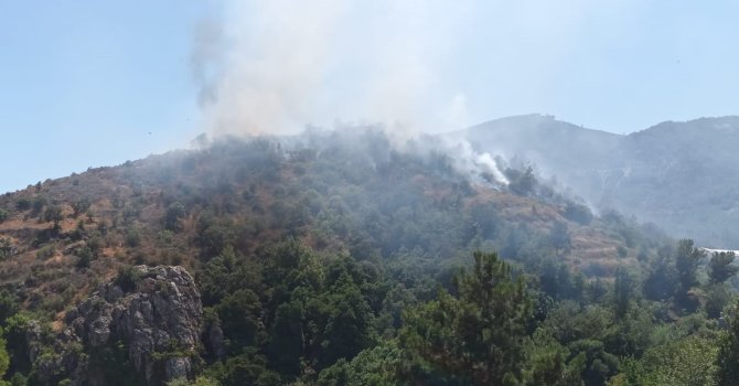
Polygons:
<instances>
[{"instance_id":1,"label":"hazy blue-grey distant mountain behind the smoking hill at right","mask_svg":"<svg viewBox=\"0 0 739 386\"><path fill-rule=\"evenodd\" d=\"M622 136L531 115L459 135L533 163L598 210L635 215L705 247L739 249L737 117L667 121Z\"/></svg>"}]
</instances>

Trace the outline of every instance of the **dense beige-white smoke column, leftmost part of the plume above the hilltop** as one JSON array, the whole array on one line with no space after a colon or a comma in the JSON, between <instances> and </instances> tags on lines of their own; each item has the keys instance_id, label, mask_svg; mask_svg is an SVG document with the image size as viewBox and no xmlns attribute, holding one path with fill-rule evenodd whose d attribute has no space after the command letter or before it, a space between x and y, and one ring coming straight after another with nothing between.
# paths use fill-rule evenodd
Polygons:
<instances>
[{"instance_id":1,"label":"dense beige-white smoke column, leftmost part of the plume above the hilltop","mask_svg":"<svg viewBox=\"0 0 739 386\"><path fill-rule=\"evenodd\" d=\"M228 2L196 32L205 125L219 133L285 133L307 124L330 61L341 1ZM208 49L215 47L215 49Z\"/></svg>"}]
</instances>

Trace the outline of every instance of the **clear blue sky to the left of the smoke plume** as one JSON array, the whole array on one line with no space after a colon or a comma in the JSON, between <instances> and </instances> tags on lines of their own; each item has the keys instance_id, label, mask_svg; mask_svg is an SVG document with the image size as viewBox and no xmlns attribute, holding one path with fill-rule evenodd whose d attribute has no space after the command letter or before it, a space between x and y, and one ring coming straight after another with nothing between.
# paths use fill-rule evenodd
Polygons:
<instances>
[{"instance_id":1,"label":"clear blue sky to the left of the smoke plume","mask_svg":"<svg viewBox=\"0 0 739 386\"><path fill-rule=\"evenodd\" d=\"M0 191L188 144L208 10L181 3L0 1Z\"/></svg>"}]
</instances>

